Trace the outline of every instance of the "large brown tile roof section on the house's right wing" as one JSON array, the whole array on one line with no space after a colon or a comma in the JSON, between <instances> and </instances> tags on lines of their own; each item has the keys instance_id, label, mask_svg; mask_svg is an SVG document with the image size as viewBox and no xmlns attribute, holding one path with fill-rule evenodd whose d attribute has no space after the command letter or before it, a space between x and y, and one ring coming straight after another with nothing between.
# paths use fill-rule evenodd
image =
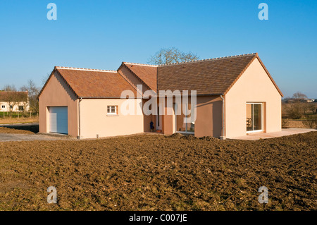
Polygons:
<instances>
[{"instance_id":1,"label":"large brown tile roof section on the house's right wing","mask_svg":"<svg viewBox=\"0 0 317 225\"><path fill-rule=\"evenodd\" d=\"M197 90L197 95L225 94L256 58L259 56L254 53L160 65L158 90ZM266 70L261 59L259 61ZM278 89L270 73L268 76Z\"/></svg>"}]
</instances>

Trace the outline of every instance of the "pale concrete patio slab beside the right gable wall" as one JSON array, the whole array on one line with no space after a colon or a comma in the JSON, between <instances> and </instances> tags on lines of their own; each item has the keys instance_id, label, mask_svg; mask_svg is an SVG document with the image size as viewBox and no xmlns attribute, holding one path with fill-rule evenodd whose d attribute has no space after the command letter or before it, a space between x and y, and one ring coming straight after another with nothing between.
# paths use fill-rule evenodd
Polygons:
<instances>
[{"instance_id":1,"label":"pale concrete patio slab beside the right gable wall","mask_svg":"<svg viewBox=\"0 0 317 225\"><path fill-rule=\"evenodd\" d=\"M235 137L230 139L259 140L259 139L266 139L266 138L278 138L278 137L287 136L287 135L294 135L297 133L307 133L311 131L317 131L317 130L308 129L308 128L287 128L287 129L282 129L281 131L272 132L272 133L249 133L248 135L245 135L245 136Z\"/></svg>"}]
</instances>

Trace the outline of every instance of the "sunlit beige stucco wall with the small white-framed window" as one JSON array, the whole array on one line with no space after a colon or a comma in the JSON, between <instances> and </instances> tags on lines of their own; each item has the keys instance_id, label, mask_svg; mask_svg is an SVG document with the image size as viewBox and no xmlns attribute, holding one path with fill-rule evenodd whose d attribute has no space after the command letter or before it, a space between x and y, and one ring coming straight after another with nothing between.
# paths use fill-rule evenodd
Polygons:
<instances>
[{"instance_id":1,"label":"sunlit beige stucco wall with the small white-framed window","mask_svg":"<svg viewBox=\"0 0 317 225\"><path fill-rule=\"evenodd\" d=\"M121 106L127 99L82 99L80 102L80 138L130 135L144 131L143 115L123 115ZM142 99L128 99L142 110ZM118 106L118 116L108 116L107 106ZM136 111L135 111L136 113Z\"/></svg>"}]
</instances>

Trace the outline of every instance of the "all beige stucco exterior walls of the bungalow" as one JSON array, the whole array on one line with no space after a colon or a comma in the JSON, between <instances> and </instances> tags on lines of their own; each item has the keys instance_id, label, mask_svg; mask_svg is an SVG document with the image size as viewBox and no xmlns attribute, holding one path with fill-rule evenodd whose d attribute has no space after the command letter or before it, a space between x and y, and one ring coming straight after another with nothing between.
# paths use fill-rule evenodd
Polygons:
<instances>
[{"instance_id":1,"label":"all beige stucco exterior walls of the bungalow","mask_svg":"<svg viewBox=\"0 0 317 225\"><path fill-rule=\"evenodd\" d=\"M128 69L123 68L120 73L130 83L140 84ZM145 90L146 87L143 91ZM68 107L68 134L80 135L81 138L96 138L97 134L99 137L107 137L142 133L149 131L151 120L154 121L154 125L156 123L155 116L123 115L121 105L126 99L82 99L79 121L78 101L58 73L52 75L39 97L39 132L49 132L48 107ZM129 99L129 101L142 110L147 99ZM264 103L264 132L281 130L281 96L258 59L251 63L225 95L226 138L246 135L247 102ZM108 105L118 105L118 116L107 116ZM167 112L167 105L165 110ZM175 116L163 116L162 124L164 134L175 132ZM222 99L219 96L197 97L194 135L197 137L222 135Z\"/></svg>"}]
</instances>

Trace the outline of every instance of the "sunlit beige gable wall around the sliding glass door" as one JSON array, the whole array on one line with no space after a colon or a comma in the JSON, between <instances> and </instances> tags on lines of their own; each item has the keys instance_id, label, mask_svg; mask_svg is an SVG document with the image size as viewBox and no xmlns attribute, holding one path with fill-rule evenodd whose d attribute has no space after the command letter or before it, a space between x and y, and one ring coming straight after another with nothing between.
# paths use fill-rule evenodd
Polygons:
<instances>
[{"instance_id":1,"label":"sunlit beige gable wall around the sliding glass door","mask_svg":"<svg viewBox=\"0 0 317 225\"><path fill-rule=\"evenodd\" d=\"M247 102L264 103L264 132L281 130L281 95L258 59L225 95L226 138L247 134Z\"/></svg>"}]
</instances>

